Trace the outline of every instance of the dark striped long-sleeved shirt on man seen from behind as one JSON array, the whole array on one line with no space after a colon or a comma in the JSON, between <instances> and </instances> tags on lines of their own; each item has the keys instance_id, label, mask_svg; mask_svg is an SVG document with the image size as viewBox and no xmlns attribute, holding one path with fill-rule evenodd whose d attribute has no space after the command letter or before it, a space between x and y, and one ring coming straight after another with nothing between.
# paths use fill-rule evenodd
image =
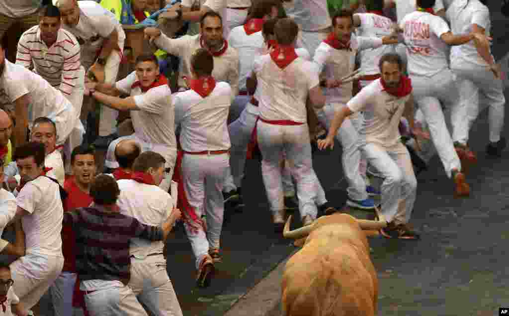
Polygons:
<instances>
[{"instance_id":1,"label":"dark striped long-sleeved shirt on man seen from behind","mask_svg":"<svg viewBox=\"0 0 509 316\"><path fill-rule=\"evenodd\" d=\"M76 272L81 281L119 280L129 282L130 239L162 240L162 229L135 218L111 213L100 205L64 213L64 225L76 235Z\"/></svg>"}]
</instances>

